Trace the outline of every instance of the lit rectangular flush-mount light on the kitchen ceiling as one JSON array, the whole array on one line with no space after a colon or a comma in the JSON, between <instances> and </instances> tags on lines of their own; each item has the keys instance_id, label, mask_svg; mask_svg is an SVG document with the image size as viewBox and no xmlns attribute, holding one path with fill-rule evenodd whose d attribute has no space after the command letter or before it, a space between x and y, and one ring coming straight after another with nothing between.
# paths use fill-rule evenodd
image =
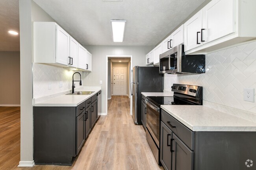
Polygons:
<instances>
[{"instance_id":1,"label":"lit rectangular flush-mount light on the kitchen ceiling","mask_svg":"<svg viewBox=\"0 0 256 170\"><path fill-rule=\"evenodd\" d=\"M114 42L123 42L124 40L124 27L126 20L110 20L113 33Z\"/></svg>"}]
</instances>

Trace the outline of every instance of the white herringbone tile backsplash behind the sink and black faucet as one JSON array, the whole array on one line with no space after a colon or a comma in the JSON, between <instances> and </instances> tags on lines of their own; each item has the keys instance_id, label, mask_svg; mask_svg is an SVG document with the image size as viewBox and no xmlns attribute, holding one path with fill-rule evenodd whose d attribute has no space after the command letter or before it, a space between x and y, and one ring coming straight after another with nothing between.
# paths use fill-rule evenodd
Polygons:
<instances>
[{"instance_id":1,"label":"white herringbone tile backsplash behind the sink and black faucet","mask_svg":"<svg viewBox=\"0 0 256 170\"><path fill-rule=\"evenodd\" d=\"M72 75L74 72L76 71L33 63L33 98L70 90L72 88ZM80 72L82 75L81 71L77 72ZM74 75L74 79L78 80L80 76L76 74ZM63 82L63 87L61 88L59 87L60 81ZM51 90L48 90L48 83L51 83ZM82 85L84 85L83 82ZM79 82L76 82L76 87L79 87Z\"/></svg>"}]
</instances>

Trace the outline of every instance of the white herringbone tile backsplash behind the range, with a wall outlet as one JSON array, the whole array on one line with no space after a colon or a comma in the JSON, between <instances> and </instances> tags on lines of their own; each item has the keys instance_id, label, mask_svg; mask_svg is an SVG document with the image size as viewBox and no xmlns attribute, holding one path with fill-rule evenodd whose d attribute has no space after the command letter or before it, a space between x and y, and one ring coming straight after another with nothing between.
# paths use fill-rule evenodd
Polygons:
<instances>
[{"instance_id":1,"label":"white herringbone tile backsplash behind the range, with a wall outlet","mask_svg":"<svg viewBox=\"0 0 256 170\"><path fill-rule=\"evenodd\" d=\"M165 74L165 90L173 83L203 86L205 101L256 113L255 101L243 101L244 88L256 89L256 41L207 54L205 74Z\"/></svg>"}]
</instances>

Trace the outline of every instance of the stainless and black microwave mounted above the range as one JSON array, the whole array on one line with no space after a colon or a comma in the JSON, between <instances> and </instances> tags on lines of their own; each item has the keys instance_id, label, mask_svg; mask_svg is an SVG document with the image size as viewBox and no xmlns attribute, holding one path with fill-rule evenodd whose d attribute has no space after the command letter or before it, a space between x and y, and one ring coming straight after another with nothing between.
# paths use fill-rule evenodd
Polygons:
<instances>
[{"instance_id":1,"label":"stainless and black microwave mounted above the range","mask_svg":"<svg viewBox=\"0 0 256 170\"><path fill-rule=\"evenodd\" d=\"M161 54L159 64L159 73L205 73L205 55L185 55L184 44L180 44Z\"/></svg>"}]
</instances>

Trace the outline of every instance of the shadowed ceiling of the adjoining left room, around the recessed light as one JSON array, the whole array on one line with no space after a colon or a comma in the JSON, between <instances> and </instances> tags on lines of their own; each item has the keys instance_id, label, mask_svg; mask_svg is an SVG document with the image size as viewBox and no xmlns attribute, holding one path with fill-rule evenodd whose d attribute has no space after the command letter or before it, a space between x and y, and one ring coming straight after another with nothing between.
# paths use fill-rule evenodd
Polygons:
<instances>
[{"instance_id":1,"label":"shadowed ceiling of the adjoining left room, around the recessed light","mask_svg":"<svg viewBox=\"0 0 256 170\"><path fill-rule=\"evenodd\" d=\"M0 0L0 51L20 51L19 35L9 30L19 33L19 0Z\"/></svg>"}]
</instances>

